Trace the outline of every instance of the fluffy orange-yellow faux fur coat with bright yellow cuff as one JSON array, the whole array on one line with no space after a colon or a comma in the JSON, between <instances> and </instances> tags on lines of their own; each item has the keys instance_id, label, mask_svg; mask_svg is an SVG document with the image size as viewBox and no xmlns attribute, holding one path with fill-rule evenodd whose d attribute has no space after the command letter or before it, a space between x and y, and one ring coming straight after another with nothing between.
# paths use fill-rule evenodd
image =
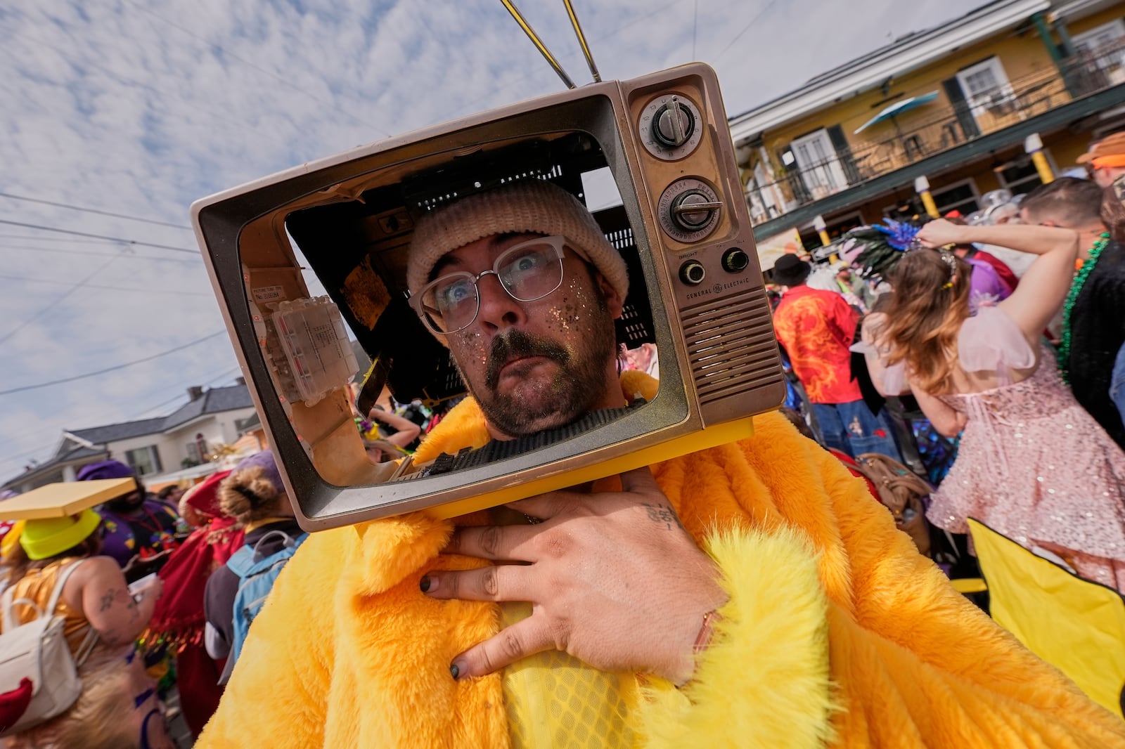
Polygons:
<instances>
[{"instance_id":1,"label":"fluffy orange-yellow faux fur coat with bright yellow cuff","mask_svg":"<svg viewBox=\"0 0 1125 749\"><path fill-rule=\"evenodd\" d=\"M781 416L755 425L652 467L730 601L690 685L644 679L644 746L1125 747L1125 723L955 593L862 480ZM466 401L425 446L486 439ZM438 554L450 529L411 514L314 533L197 749L507 747L501 675L449 675L496 632L495 605L418 590L480 563Z\"/></svg>"}]
</instances>

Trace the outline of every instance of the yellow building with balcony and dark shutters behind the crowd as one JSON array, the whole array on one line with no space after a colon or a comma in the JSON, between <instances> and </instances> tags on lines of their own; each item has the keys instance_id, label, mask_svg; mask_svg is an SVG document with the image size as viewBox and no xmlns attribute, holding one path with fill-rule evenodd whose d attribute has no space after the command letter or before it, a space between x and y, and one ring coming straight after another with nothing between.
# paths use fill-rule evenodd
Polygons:
<instances>
[{"instance_id":1,"label":"yellow building with balcony and dark shutters behind the crowd","mask_svg":"<svg viewBox=\"0 0 1125 749\"><path fill-rule=\"evenodd\" d=\"M1122 0L997 0L911 34L730 119L755 235L814 249L925 213L926 182L942 214L1027 192L1029 151L1059 173L1125 129L1123 83Z\"/></svg>"}]
</instances>

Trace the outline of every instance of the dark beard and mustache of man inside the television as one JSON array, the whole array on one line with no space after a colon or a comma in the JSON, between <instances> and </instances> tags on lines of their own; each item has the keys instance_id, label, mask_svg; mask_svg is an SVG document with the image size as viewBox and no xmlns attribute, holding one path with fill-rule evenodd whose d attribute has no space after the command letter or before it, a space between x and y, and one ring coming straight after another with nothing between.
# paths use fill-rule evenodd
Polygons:
<instances>
[{"instance_id":1,"label":"dark beard and mustache of man inside the television","mask_svg":"<svg viewBox=\"0 0 1125 749\"><path fill-rule=\"evenodd\" d=\"M496 428L512 437L564 426L588 413L605 395L606 367L616 358L613 321L605 316L594 335L574 349L546 336L513 330L493 339L485 381L471 387L474 398ZM521 382L500 392L500 373L514 358L542 357L557 364L554 377ZM461 378L469 382L464 372Z\"/></svg>"}]
</instances>

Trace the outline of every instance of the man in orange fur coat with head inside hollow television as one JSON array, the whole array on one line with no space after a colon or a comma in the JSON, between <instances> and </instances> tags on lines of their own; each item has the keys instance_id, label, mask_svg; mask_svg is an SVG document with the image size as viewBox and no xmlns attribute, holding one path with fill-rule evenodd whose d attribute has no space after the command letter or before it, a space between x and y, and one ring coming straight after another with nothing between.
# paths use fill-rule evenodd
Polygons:
<instances>
[{"instance_id":1,"label":"man in orange fur coat with head inside hollow television","mask_svg":"<svg viewBox=\"0 0 1125 749\"><path fill-rule=\"evenodd\" d=\"M426 454L655 392L619 382L624 264L561 188L421 219L407 281L472 396ZM592 486L312 534L197 747L1045 743L1125 746L1125 724L767 414Z\"/></svg>"}]
</instances>

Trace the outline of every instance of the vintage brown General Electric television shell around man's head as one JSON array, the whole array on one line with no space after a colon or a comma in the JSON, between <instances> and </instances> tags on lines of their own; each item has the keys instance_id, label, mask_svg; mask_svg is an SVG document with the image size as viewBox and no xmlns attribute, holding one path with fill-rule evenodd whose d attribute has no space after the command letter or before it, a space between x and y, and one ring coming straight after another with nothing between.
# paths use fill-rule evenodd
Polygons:
<instances>
[{"instance_id":1,"label":"vintage brown General Electric television shell around man's head","mask_svg":"<svg viewBox=\"0 0 1125 749\"><path fill-rule=\"evenodd\" d=\"M654 343L655 398L593 415L489 461L372 463L345 388L346 330L381 387L436 403L464 386L408 305L406 254L429 210L516 179L586 197L608 173L621 205L595 211L626 258L618 322ZM453 516L748 435L784 380L714 72L690 64L511 105L308 163L199 200L208 272L298 518L307 530L425 509ZM327 297L309 298L304 272Z\"/></svg>"}]
</instances>

